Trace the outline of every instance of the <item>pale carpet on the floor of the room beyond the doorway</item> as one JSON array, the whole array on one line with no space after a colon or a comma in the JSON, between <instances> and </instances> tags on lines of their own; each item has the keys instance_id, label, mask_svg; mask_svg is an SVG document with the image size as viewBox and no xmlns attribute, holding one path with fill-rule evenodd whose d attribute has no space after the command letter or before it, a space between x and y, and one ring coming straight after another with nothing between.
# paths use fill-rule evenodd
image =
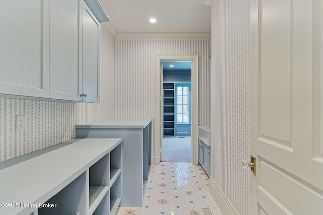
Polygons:
<instances>
[{"instance_id":1,"label":"pale carpet on the floor of the room beyond the doorway","mask_svg":"<svg viewBox=\"0 0 323 215\"><path fill-rule=\"evenodd\" d=\"M191 162L191 137L164 137L163 138L164 162Z\"/></svg>"}]
</instances>

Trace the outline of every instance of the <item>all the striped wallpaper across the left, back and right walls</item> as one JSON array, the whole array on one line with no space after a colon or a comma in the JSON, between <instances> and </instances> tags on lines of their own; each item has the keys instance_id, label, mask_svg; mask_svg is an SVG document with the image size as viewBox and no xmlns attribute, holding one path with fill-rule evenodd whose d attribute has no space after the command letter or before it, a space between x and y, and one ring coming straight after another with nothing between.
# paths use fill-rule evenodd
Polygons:
<instances>
[{"instance_id":1,"label":"all the striped wallpaper across the left, back and right walls","mask_svg":"<svg viewBox=\"0 0 323 215\"><path fill-rule=\"evenodd\" d=\"M114 41L102 27L101 103L0 98L0 162L75 137L75 124L153 118L155 55L199 54L199 124L212 126L211 178L248 214L241 160L249 156L249 11L250 0L214 0L212 48L211 40ZM15 131L19 114L26 131Z\"/></svg>"}]
</instances>

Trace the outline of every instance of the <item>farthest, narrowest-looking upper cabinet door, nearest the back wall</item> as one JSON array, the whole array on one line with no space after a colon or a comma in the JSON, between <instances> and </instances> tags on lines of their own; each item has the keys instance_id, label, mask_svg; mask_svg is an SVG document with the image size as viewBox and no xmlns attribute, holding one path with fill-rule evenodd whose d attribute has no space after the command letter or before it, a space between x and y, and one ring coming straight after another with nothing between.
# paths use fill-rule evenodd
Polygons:
<instances>
[{"instance_id":1,"label":"farthest, narrowest-looking upper cabinet door, nearest the back wall","mask_svg":"<svg viewBox=\"0 0 323 215\"><path fill-rule=\"evenodd\" d=\"M100 102L100 23L87 6L83 3L83 29L82 29L82 93L86 102Z\"/></svg>"}]
</instances>

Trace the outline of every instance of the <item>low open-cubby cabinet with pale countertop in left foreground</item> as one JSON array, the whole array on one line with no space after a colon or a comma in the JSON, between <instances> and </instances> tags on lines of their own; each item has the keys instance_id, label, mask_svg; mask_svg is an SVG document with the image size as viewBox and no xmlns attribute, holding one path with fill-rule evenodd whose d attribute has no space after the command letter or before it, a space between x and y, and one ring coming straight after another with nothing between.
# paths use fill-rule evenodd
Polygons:
<instances>
[{"instance_id":1,"label":"low open-cubby cabinet with pale countertop in left foreground","mask_svg":"<svg viewBox=\"0 0 323 215\"><path fill-rule=\"evenodd\" d=\"M0 208L0 214L115 214L122 198L122 141L86 138L41 155L35 153L33 159L21 162L17 158L16 165L0 169L0 175L12 176L12 180L0 178L0 192L12 196L12 202L36 206ZM39 171L44 164L48 169ZM26 183L17 184L17 177ZM20 195L13 195L18 190ZM2 196L0 200L4 200Z\"/></svg>"}]
</instances>

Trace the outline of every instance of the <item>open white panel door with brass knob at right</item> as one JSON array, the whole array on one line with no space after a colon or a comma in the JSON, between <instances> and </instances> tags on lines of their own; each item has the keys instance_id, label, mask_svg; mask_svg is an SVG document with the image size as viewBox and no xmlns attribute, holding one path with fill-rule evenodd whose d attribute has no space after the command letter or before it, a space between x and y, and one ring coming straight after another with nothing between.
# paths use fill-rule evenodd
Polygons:
<instances>
[{"instance_id":1,"label":"open white panel door with brass knob at right","mask_svg":"<svg viewBox=\"0 0 323 215\"><path fill-rule=\"evenodd\" d=\"M249 214L323 214L322 11L251 0Z\"/></svg>"}]
</instances>

